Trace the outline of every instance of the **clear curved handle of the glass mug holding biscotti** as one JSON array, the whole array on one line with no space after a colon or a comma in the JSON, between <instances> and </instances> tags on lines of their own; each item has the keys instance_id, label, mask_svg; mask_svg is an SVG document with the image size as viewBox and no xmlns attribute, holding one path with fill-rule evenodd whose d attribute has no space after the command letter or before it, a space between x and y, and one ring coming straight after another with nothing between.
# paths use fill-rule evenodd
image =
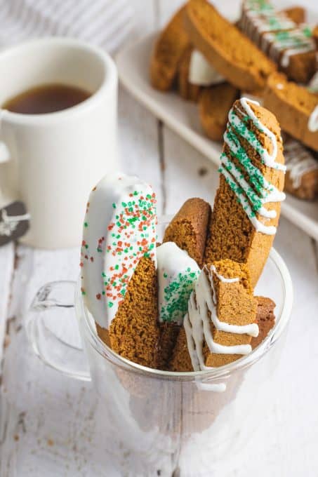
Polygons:
<instances>
[{"instance_id":1,"label":"clear curved handle of the glass mug holding biscotti","mask_svg":"<svg viewBox=\"0 0 318 477\"><path fill-rule=\"evenodd\" d=\"M63 375L91 381L74 309L75 281L42 286L29 308L26 331L34 353Z\"/></svg>"}]
</instances>

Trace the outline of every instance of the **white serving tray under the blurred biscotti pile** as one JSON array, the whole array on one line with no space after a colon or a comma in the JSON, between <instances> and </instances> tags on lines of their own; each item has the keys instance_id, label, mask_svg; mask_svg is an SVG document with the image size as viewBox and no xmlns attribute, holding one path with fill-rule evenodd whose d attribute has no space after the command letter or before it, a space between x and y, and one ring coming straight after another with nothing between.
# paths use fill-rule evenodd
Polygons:
<instances>
[{"instance_id":1,"label":"white serving tray under the blurred biscotti pile","mask_svg":"<svg viewBox=\"0 0 318 477\"><path fill-rule=\"evenodd\" d=\"M183 100L176 93L160 93L150 86L150 54L156 36L146 36L117 55L119 79L136 100L218 166L221 145L204 135L197 105ZM318 201L301 201L288 195L282 203L281 213L318 240Z\"/></svg>"}]
</instances>

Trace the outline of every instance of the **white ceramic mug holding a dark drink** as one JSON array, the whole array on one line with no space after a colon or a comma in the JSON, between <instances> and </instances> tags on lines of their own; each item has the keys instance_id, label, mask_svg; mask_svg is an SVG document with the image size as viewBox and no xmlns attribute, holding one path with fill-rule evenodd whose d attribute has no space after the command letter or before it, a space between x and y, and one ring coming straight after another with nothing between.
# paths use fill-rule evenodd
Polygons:
<instances>
[{"instance_id":1,"label":"white ceramic mug holding a dark drink","mask_svg":"<svg viewBox=\"0 0 318 477\"><path fill-rule=\"evenodd\" d=\"M0 53L0 105L46 83L77 86L91 97L49 114L1 109L1 206L25 203L31 220L23 243L78 246L90 190L119 167L117 69L100 48L66 38L27 41Z\"/></svg>"}]
</instances>

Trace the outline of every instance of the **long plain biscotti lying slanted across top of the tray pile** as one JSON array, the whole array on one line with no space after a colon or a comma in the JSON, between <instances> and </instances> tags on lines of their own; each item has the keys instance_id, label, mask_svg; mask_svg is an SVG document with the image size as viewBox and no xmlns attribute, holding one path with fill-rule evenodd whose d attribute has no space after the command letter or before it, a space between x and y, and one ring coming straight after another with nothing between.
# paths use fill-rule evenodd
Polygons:
<instances>
[{"instance_id":1,"label":"long plain biscotti lying slanted across top of the tray pile","mask_svg":"<svg viewBox=\"0 0 318 477\"><path fill-rule=\"evenodd\" d=\"M246 91L265 86L276 66L237 27L206 0L190 0L185 13L190 41L227 81Z\"/></svg>"}]
</instances>

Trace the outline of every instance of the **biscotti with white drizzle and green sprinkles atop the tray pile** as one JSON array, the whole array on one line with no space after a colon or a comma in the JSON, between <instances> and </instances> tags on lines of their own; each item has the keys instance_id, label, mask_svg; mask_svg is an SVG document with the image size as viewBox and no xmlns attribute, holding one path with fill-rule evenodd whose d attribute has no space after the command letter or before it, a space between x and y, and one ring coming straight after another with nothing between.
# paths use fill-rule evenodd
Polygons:
<instances>
[{"instance_id":1,"label":"biscotti with white drizzle and green sprinkles atop the tray pile","mask_svg":"<svg viewBox=\"0 0 318 477\"><path fill-rule=\"evenodd\" d=\"M268 1L243 0L239 28L279 69L294 81L307 83L316 69L316 46L310 27L298 27Z\"/></svg>"}]
</instances>

